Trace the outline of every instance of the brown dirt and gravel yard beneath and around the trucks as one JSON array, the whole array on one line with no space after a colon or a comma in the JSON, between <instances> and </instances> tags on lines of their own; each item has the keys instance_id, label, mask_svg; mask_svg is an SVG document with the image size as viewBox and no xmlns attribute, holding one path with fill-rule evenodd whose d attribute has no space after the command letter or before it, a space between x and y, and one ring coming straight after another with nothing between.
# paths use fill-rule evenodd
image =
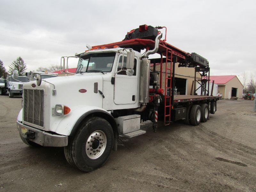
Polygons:
<instances>
[{"instance_id":1,"label":"brown dirt and gravel yard beneath and around the trucks","mask_svg":"<svg viewBox=\"0 0 256 192\"><path fill-rule=\"evenodd\" d=\"M253 101L220 100L199 126L143 123L147 133L121 139L101 168L71 167L62 148L20 140L21 98L0 96L0 191L256 191Z\"/></svg>"}]
</instances>

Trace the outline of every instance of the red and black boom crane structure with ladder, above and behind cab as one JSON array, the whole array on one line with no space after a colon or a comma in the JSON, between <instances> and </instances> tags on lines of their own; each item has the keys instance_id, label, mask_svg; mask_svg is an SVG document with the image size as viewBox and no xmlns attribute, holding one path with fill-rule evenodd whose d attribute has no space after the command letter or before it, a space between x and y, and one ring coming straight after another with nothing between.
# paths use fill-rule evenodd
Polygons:
<instances>
[{"instance_id":1,"label":"red and black boom crane structure with ladder, above and behind cab","mask_svg":"<svg viewBox=\"0 0 256 192\"><path fill-rule=\"evenodd\" d=\"M119 46L121 48L132 48L133 50L138 52L144 49L148 51L150 49L153 49L155 46L155 41L152 40L155 38L157 34L155 30L162 28L165 28L165 39L160 40L159 48L157 51L157 53L160 54L160 62L152 63L150 71L157 71L156 68L160 68L159 88L164 89L164 124L169 125L171 122L171 109L173 108L174 105L174 94L172 93L174 93L175 63L178 62L179 67L195 68L195 77L193 85L194 87L196 87L196 82L199 83L199 88L201 88L201 95L209 96L209 62L205 58L196 53L190 54L178 49L177 47L171 44L166 43L166 27L156 27L153 29L152 26L142 25L139 28L133 29L130 32L128 32L123 41L111 44L92 46L92 48L114 48L114 46ZM201 75L201 80L199 81L196 80L197 72L199 72ZM208 88L206 86L207 83ZM196 90L197 89L194 89L194 95L196 95Z\"/></svg>"}]
</instances>

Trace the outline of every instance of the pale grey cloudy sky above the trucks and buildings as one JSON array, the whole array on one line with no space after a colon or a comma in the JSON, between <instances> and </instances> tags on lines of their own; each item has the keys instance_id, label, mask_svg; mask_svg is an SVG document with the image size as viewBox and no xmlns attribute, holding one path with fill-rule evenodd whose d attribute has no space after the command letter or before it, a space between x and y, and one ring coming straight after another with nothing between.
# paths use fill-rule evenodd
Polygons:
<instances>
[{"instance_id":1,"label":"pale grey cloudy sky above the trucks and buildings","mask_svg":"<svg viewBox=\"0 0 256 192\"><path fill-rule=\"evenodd\" d=\"M160 4L156 4L156 3ZM211 75L255 70L256 1L0 1L0 59L28 70L60 64L85 44L121 41L139 25L167 27L167 42L209 60Z\"/></svg>"}]
</instances>

